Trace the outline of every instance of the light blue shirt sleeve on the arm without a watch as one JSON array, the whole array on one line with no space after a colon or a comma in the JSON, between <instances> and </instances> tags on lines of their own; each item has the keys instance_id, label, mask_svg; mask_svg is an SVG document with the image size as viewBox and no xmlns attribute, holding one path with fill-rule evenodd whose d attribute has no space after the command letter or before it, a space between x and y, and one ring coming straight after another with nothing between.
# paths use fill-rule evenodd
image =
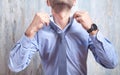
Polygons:
<instances>
[{"instance_id":1,"label":"light blue shirt sleeve on the arm without a watch","mask_svg":"<svg viewBox=\"0 0 120 75\"><path fill-rule=\"evenodd\" d=\"M38 50L35 38L23 35L16 43L9 55L9 68L14 72L25 69L31 61L33 54Z\"/></svg>"}]
</instances>

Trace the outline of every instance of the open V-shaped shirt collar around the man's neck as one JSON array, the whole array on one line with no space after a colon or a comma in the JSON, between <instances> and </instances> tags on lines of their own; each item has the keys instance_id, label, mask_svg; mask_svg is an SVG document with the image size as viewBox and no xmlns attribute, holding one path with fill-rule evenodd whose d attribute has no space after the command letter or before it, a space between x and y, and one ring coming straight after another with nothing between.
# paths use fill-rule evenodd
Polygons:
<instances>
[{"instance_id":1,"label":"open V-shaped shirt collar around the man's neck","mask_svg":"<svg viewBox=\"0 0 120 75\"><path fill-rule=\"evenodd\" d=\"M62 32L66 32L70 26L73 23L73 17L70 17L70 21L67 24L67 26L62 30L54 21L53 16L50 16L50 26L52 27L53 30L55 30L57 33L62 33Z\"/></svg>"}]
</instances>

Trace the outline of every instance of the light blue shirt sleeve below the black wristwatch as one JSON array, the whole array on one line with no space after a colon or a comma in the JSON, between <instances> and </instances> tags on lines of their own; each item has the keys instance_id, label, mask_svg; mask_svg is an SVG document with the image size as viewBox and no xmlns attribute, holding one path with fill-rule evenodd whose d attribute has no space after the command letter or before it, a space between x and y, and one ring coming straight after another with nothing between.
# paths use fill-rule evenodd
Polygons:
<instances>
[{"instance_id":1,"label":"light blue shirt sleeve below the black wristwatch","mask_svg":"<svg viewBox=\"0 0 120 75\"><path fill-rule=\"evenodd\" d=\"M96 61L102 66L112 69L117 63L117 56L111 42L106 39L100 31L94 36L90 35L90 45Z\"/></svg>"}]
</instances>

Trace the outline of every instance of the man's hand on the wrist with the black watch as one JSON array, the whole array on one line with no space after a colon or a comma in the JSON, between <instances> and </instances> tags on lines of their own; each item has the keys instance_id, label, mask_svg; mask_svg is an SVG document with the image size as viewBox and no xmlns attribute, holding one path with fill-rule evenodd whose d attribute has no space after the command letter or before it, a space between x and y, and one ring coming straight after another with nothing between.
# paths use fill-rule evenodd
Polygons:
<instances>
[{"instance_id":1,"label":"man's hand on the wrist with the black watch","mask_svg":"<svg viewBox=\"0 0 120 75\"><path fill-rule=\"evenodd\" d=\"M82 26L88 30L91 28L91 25L93 24L92 19L90 18L88 12L85 11L77 11L74 13L74 18L76 21ZM91 32L90 34L95 35L98 32L98 30Z\"/></svg>"}]
</instances>

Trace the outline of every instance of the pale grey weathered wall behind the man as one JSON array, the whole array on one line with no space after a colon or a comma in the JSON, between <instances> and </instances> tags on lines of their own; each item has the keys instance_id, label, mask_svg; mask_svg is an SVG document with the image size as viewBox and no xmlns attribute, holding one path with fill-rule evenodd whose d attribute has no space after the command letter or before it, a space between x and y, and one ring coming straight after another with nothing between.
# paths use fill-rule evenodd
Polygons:
<instances>
[{"instance_id":1,"label":"pale grey weathered wall behind the man","mask_svg":"<svg viewBox=\"0 0 120 75\"><path fill-rule=\"evenodd\" d=\"M78 0L75 10L86 10L100 31L107 36L116 48L120 59L120 0ZM45 0L0 0L0 75L42 75L38 54L30 65L19 73L8 69L9 51L20 39L36 12L50 9ZM105 69L97 64L91 52L88 57L88 75L120 75L120 63L113 69Z\"/></svg>"}]
</instances>

